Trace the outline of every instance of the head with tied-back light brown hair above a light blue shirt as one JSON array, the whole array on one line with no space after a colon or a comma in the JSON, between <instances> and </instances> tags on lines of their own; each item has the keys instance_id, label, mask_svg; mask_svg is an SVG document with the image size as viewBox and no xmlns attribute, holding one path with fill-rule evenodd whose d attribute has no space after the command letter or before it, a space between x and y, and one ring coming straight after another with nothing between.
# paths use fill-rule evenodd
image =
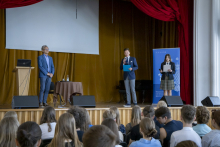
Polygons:
<instances>
[{"instance_id":1,"label":"head with tied-back light brown hair above a light blue shirt","mask_svg":"<svg viewBox=\"0 0 220 147\"><path fill-rule=\"evenodd\" d=\"M154 137L157 134L154 120L148 117L143 118L140 123L140 132L144 137Z\"/></svg>"}]
</instances>

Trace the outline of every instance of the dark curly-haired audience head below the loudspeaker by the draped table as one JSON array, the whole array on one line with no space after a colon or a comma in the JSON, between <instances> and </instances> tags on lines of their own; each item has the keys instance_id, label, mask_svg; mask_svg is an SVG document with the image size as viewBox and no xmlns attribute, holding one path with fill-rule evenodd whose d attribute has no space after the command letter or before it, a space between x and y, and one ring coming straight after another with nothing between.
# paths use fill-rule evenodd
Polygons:
<instances>
[{"instance_id":1,"label":"dark curly-haired audience head below the loudspeaker by the draped table","mask_svg":"<svg viewBox=\"0 0 220 147\"><path fill-rule=\"evenodd\" d=\"M86 123L86 114L84 113L83 109L78 106L72 106L67 110L68 113L72 114L76 121L76 129L84 128Z\"/></svg>"}]
</instances>

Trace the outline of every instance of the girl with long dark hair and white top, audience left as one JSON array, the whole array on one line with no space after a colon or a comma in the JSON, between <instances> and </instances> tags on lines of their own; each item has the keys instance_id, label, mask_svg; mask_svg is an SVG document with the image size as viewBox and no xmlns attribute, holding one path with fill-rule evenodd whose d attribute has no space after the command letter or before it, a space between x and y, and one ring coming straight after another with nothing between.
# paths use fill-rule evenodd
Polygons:
<instances>
[{"instance_id":1,"label":"girl with long dark hair and white top, audience left","mask_svg":"<svg viewBox=\"0 0 220 147\"><path fill-rule=\"evenodd\" d=\"M51 106L45 107L40 120L42 140L51 139L54 137L56 122L57 120L54 108Z\"/></svg>"}]
</instances>

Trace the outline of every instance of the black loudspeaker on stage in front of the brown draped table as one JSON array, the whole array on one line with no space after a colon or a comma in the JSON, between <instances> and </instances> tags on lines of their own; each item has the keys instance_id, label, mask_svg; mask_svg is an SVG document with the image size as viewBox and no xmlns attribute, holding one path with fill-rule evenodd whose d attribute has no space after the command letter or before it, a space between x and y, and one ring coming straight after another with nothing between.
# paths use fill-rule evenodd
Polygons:
<instances>
[{"instance_id":1,"label":"black loudspeaker on stage in front of the brown draped table","mask_svg":"<svg viewBox=\"0 0 220 147\"><path fill-rule=\"evenodd\" d=\"M72 96L70 99L71 105L76 105L80 107L95 107L95 96L94 95L81 95Z\"/></svg>"}]
</instances>

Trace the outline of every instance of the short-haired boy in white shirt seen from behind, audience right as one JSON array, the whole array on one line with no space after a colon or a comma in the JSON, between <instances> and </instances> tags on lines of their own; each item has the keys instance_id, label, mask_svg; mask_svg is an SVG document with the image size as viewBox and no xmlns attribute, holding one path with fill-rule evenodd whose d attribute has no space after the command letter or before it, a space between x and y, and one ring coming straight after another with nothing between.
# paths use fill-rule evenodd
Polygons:
<instances>
[{"instance_id":1,"label":"short-haired boy in white shirt seen from behind, audience right","mask_svg":"<svg viewBox=\"0 0 220 147\"><path fill-rule=\"evenodd\" d=\"M182 107L181 120L183 122L183 129L172 133L170 147L175 147L179 142L185 140L194 141L198 147L202 147L201 138L192 128L192 122L196 119L195 115L196 109L194 106L185 105Z\"/></svg>"}]
</instances>

